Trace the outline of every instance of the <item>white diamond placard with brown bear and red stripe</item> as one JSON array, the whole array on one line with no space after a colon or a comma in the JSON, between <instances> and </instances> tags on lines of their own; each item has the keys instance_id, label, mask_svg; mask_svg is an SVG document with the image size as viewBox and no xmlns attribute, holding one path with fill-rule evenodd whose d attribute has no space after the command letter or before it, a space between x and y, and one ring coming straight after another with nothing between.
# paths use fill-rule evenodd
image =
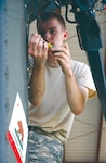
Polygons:
<instances>
[{"instance_id":1,"label":"white diamond placard with brown bear and red stripe","mask_svg":"<svg viewBox=\"0 0 106 163\"><path fill-rule=\"evenodd\" d=\"M6 138L13 149L17 162L25 163L27 151L28 126L24 108L18 93L16 95L16 100L9 125L9 130L6 133Z\"/></svg>"}]
</instances>

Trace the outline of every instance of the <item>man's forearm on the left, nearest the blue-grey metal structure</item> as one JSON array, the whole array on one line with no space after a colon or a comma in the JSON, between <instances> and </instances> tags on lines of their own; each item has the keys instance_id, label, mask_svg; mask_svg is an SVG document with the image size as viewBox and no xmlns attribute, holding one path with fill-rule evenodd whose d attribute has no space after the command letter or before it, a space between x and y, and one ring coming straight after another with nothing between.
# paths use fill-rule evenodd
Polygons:
<instances>
[{"instance_id":1,"label":"man's forearm on the left, nearest the blue-grey metal structure","mask_svg":"<svg viewBox=\"0 0 106 163\"><path fill-rule=\"evenodd\" d=\"M45 89L45 65L34 65L31 78L29 82L29 100L38 106L42 102L42 98Z\"/></svg>"}]
</instances>

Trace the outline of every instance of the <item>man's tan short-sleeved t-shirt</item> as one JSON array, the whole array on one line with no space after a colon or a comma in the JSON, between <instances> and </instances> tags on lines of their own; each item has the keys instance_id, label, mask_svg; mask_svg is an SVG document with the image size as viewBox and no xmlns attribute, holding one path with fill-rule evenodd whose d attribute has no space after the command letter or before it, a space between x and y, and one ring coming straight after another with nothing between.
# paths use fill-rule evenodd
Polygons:
<instances>
[{"instance_id":1,"label":"man's tan short-sleeved t-shirt","mask_svg":"<svg viewBox=\"0 0 106 163\"><path fill-rule=\"evenodd\" d=\"M89 98L96 93L91 71L84 63L71 61L74 74L79 86L89 89ZM45 92L40 106L29 108L29 125L39 126L45 131L55 131L55 137L66 142L74 122L66 98L65 77L62 68L47 64Z\"/></svg>"}]
</instances>

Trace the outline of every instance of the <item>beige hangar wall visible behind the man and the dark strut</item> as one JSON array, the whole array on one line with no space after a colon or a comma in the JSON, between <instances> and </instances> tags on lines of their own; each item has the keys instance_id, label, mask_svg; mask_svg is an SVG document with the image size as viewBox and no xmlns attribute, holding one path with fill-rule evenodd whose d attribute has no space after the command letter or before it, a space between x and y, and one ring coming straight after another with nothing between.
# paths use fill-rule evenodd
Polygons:
<instances>
[{"instance_id":1,"label":"beige hangar wall visible behind the man and the dark strut","mask_svg":"<svg viewBox=\"0 0 106 163\"><path fill-rule=\"evenodd\" d=\"M64 11L64 9L63 9ZM64 14L64 13L63 13ZM72 14L71 17L72 20ZM104 43L104 48L102 49L103 58L105 55L106 49L106 11L103 11L101 14L98 12L97 21L102 30L102 39ZM74 59L87 62L88 59L85 53L80 50L77 35L75 30L76 25L67 24L67 29L69 30L69 49ZM96 62L95 62L96 64ZM94 65L95 65L94 64ZM98 141L98 131L100 131L100 102L97 98L94 98L88 101L84 112L81 115L76 116L72 130L70 133L70 137L65 147L65 160L67 162L96 162L96 151ZM79 122L78 122L79 120ZM81 122L83 122L81 124ZM87 124L87 126L85 126ZM89 124L92 124L90 127ZM102 127L102 137L101 137L101 147L100 147L100 162L106 162L106 123L104 120L104 125ZM87 130L87 135L83 135ZM90 134L90 131L92 131ZM82 137L80 137L82 135Z\"/></svg>"}]
</instances>

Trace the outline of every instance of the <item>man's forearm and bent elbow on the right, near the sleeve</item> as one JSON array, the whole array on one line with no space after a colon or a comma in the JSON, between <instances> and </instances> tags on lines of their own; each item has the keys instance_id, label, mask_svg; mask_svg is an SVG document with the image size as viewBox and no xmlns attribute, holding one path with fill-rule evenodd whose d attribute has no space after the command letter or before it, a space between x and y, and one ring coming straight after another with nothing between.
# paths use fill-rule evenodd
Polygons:
<instances>
[{"instance_id":1,"label":"man's forearm and bent elbow on the right, near the sleeve","mask_svg":"<svg viewBox=\"0 0 106 163\"><path fill-rule=\"evenodd\" d=\"M88 89L78 86L74 75L65 76L67 101L74 114L80 114L85 105Z\"/></svg>"}]
</instances>

